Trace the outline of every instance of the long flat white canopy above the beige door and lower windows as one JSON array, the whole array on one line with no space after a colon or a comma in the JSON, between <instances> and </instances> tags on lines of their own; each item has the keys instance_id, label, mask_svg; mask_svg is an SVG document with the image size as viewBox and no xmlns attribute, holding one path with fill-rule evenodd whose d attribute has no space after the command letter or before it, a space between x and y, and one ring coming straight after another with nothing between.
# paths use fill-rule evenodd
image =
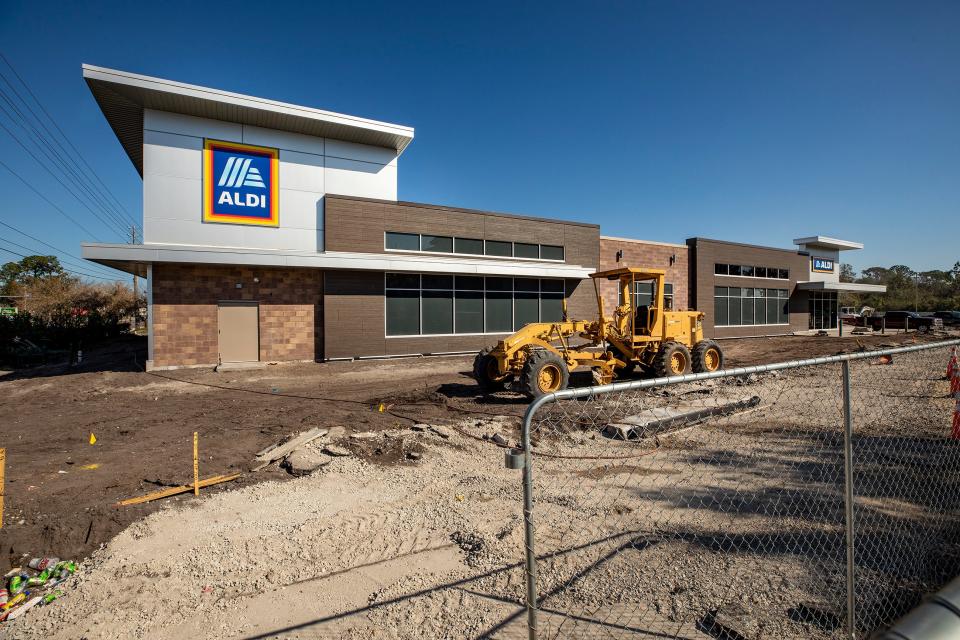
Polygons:
<instances>
[{"instance_id":1,"label":"long flat white canopy above the beige door and lower windows","mask_svg":"<svg viewBox=\"0 0 960 640\"><path fill-rule=\"evenodd\" d=\"M451 258L390 253L328 251L274 251L161 244L83 243L81 255L91 262L146 277L153 263L216 264L229 266L290 267L346 271L407 271L537 278L590 277L594 269L580 265L523 263L483 258Z\"/></svg>"}]
</instances>

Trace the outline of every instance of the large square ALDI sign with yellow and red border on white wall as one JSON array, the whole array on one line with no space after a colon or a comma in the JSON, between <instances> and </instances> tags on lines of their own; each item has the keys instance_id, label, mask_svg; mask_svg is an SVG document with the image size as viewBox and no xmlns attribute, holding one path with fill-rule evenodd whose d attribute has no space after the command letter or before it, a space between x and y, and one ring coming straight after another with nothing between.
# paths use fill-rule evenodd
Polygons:
<instances>
[{"instance_id":1,"label":"large square ALDI sign with yellow and red border on white wall","mask_svg":"<svg viewBox=\"0 0 960 640\"><path fill-rule=\"evenodd\" d=\"M280 225L280 152L237 142L203 142L203 221Z\"/></svg>"}]
</instances>

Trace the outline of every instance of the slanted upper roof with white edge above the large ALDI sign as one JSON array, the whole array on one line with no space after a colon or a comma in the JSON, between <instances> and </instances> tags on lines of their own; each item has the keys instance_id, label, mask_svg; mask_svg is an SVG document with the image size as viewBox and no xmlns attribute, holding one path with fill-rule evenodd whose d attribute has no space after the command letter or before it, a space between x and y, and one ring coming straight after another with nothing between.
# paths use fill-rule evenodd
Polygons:
<instances>
[{"instance_id":1,"label":"slanted upper roof with white edge above the large ALDI sign","mask_svg":"<svg viewBox=\"0 0 960 640\"><path fill-rule=\"evenodd\" d=\"M144 109L385 147L398 155L413 141L413 127L127 71L85 64L83 79L141 177Z\"/></svg>"}]
</instances>

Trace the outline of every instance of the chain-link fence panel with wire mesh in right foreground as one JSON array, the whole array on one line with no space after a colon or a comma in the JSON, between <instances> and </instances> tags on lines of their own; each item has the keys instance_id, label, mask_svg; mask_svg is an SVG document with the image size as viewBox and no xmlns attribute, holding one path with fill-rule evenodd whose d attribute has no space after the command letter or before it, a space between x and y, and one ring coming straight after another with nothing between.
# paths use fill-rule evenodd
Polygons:
<instances>
[{"instance_id":1,"label":"chain-link fence panel with wire mesh in right foreground","mask_svg":"<svg viewBox=\"0 0 960 640\"><path fill-rule=\"evenodd\" d=\"M532 404L530 637L867 638L890 625L960 574L944 376L958 343Z\"/></svg>"}]
</instances>

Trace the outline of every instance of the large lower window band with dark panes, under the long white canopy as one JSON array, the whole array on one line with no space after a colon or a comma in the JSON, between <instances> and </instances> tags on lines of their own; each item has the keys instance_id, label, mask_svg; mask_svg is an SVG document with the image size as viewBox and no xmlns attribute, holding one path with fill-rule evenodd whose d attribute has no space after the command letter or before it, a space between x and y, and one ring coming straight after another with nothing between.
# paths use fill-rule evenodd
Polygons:
<instances>
[{"instance_id":1,"label":"large lower window band with dark panes, under the long white canopy","mask_svg":"<svg viewBox=\"0 0 960 640\"><path fill-rule=\"evenodd\" d=\"M512 333L563 320L563 280L388 273L386 335Z\"/></svg>"}]
</instances>

